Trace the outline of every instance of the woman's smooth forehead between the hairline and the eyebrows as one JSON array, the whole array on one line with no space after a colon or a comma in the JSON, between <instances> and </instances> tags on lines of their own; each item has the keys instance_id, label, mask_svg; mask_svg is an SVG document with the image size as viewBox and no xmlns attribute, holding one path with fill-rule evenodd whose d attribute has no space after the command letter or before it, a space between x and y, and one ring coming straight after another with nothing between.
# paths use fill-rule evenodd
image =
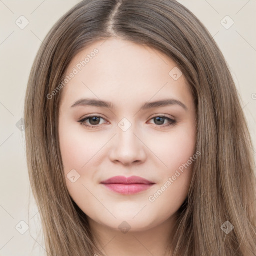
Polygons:
<instances>
[{"instance_id":1,"label":"woman's smooth forehead between the hairline and the eyebrows","mask_svg":"<svg viewBox=\"0 0 256 256\"><path fill-rule=\"evenodd\" d=\"M191 97L189 86L183 75L173 79L173 68L176 63L154 48L117 38L97 41L70 62L66 75L74 69L76 74L64 87L62 99L70 104L93 96L118 105L169 95L185 103Z\"/></svg>"}]
</instances>

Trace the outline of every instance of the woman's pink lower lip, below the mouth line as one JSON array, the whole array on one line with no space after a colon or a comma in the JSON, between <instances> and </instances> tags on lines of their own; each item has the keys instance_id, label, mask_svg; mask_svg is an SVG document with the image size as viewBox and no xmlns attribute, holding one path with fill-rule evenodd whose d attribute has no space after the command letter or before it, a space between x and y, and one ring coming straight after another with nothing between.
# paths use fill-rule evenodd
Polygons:
<instances>
[{"instance_id":1,"label":"woman's pink lower lip, below the mouth line","mask_svg":"<svg viewBox=\"0 0 256 256\"><path fill-rule=\"evenodd\" d=\"M120 194L136 194L149 189L153 184L103 184L108 189Z\"/></svg>"}]
</instances>

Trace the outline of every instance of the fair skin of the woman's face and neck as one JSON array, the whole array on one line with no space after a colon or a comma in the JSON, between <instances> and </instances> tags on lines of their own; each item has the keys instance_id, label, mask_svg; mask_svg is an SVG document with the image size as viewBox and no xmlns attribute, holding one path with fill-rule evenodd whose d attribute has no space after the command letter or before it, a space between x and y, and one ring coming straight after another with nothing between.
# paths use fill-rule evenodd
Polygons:
<instances>
[{"instance_id":1,"label":"fair skin of the woman's face and neck","mask_svg":"<svg viewBox=\"0 0 256 256\"><path fill-rule=\"evenodd\" d=\"M178 80L169 75L176 67L172 59L120 38L97 41L83 49L66 74L94 48L98 54L61 91L59 139L67 189L88 216L106 255L169 255L165 254L168 235L187 196L193 163L153 202L149 196L195 154L196 109L190 87L184 75ZM115 108L71 107L85 97L110 101ZM139 110L148 101L166 98L181 101L187 110L178 104ZM85 121L97 128L78 122L89 114L102 117L98 122ZM167 118L154 119L162 115L176 123L167 126ZM124 117L131 124L126 131L118 126ZM80 175L74 183L67 178L72 169ZM100 184L117 175L136 175L155 184L133 195ZM118 228L123 221L130 226L126 233Z\"/></svg>"}]
</instances>

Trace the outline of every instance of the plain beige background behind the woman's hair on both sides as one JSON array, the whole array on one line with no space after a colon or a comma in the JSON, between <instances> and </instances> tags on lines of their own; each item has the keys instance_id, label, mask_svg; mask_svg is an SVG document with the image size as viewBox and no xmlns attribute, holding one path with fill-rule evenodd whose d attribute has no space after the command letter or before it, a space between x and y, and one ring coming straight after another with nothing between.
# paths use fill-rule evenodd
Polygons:
<instances>
[{"instance_id":1,"label":"plain beige background behind the woman's hair on both sides","mask_svg":"<svg viewBox=\"0 0 256 256\"><path fill-rule=\"evenodd\" d=\"M29 199L24 132L16 123L23 117L28 75L41 41L57 19L78 2L0 0L0 256L40 256L45 252L42 237L37 237L40 230L38 209L33 198ZM239 90L255 145L256 1L179 2L202 21L222 50ZM15 24L21 15L29 21L24 29ZM220 23L226 15L234 21L229 29ZM29 226L24 234L20 232L25 231L25 224L20 221Z\"/></svg>"}]
</instances>

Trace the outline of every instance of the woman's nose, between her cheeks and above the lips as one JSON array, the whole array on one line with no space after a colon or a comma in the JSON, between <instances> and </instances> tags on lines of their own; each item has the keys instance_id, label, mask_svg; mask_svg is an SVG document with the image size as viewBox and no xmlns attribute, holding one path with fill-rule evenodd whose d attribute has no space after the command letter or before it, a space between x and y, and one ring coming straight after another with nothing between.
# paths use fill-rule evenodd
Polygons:
<instances>
[{"instance_id":1,"label":"woman's nose, between her cheeks and above the lips","mask_svg":"<svg viewBox=\"0 0 256 256\"><path fill-rule=\"evenodd\" d=\"M109 158L112 162L122 163L123 165L140 164L146 159L145 144L138 130L133 125L123 131L119 127L116 129L109 152Z\"/></svg>"}]
</instances>

